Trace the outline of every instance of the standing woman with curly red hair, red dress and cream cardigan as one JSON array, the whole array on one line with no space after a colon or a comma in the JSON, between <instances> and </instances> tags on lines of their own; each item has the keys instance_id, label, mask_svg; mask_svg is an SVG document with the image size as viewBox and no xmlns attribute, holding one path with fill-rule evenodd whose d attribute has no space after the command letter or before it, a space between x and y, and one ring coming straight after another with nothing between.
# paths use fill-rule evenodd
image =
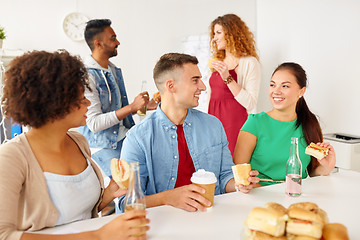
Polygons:
<instances>
[{"instance_id":1,"label":"standing woman with curly red hair, red dress and cream cardigan","mask_svg":"<svg viewBox=\"0 0 360 240\"><path fill-rule=\"evenodd\" d=\"M214 71L210 77L208 113L222 122L233 155L240 128L257 104L260 63L254 35L235 14L212 21L210 44Z\"/></svg>"}]
</instances>

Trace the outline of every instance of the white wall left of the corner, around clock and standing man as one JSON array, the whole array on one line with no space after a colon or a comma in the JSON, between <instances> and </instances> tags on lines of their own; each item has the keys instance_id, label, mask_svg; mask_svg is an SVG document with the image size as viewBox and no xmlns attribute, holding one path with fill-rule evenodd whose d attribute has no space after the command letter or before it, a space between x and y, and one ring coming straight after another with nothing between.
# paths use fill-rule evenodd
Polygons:
<instances>
[{"instance_id":1,"label":"white wall left of the corner, around clock and standing man","mask_svg":"<svg viewBox=\"0 0 360 240\"><path fill-rule=\"evenodd\" d=\"M152 70L166 52L182 51L189 35L208 33L219 15L235 13L256 28L254 0L0 0L0 25L7 30L5 48L54 51L67 49L84 57L86 43L73 42L62 31L64 17L74 11L90 19L109 18L121 45L112 61L123 69L129 98L147 80L150 93L156 88Z\"/></svg>"}]
</instances>

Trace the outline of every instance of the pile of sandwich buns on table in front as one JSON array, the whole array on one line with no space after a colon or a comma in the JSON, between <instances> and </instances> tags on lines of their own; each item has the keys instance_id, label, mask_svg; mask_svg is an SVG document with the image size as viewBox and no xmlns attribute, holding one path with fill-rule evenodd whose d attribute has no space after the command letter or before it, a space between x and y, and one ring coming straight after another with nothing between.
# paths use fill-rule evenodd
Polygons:
<instances>
[{"instance_id":1,"label":"pile of sandwich buns on table in front","mask_svg":"<svg viewBox=\"0 0 360 240\"><path fill-rule=\"evenodd\" d=\"M245 223L248 240L348 240L347 228L329 223L327 213L312 202L300 202L285 208L269 202L254 207Z\"/></svg>"}]
</instances>

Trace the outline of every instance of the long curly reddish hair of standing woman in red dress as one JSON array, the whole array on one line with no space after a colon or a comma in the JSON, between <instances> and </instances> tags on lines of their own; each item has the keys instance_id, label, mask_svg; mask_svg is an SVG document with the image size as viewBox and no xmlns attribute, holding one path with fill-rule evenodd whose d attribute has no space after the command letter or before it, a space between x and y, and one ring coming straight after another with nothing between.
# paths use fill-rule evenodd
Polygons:
<instances>
[{"instance_id":1,"label":"long curly reddish hair of standing woman in red dress","mask_svg":"<svg viewBox=\"0 0 360 240\"><path fill-rule=\"evenodd\" d=\"M226 47L234 56L253 56L259 60L255 48L254 34L249 30L246 23L235 14L219 16L210 24L210 47L214 58L220 60L225 58L225 50L218 50L216 43L213 41L216 24L223 28Z\"/></svg>"}]
</instances>

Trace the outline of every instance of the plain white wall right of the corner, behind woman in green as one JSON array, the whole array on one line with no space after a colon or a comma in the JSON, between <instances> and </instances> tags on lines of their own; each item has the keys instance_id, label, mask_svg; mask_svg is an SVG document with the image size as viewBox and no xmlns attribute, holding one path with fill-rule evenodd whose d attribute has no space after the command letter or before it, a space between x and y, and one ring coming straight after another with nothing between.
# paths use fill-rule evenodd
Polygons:
<instances>
[{"instance_id":1,"label":"plain white wall right of the corner, behind woman in green","mask_svg":"<svg viewBox=\"0 0 360 240\"><path fill-rule=\"evenodd\" d=\"M271 108L273 70L294 61L307 71L305 99L323 132L360 136L360 2L258 0L257 16L263 65L258 110Z\"/></svg>"}]
</instances>

